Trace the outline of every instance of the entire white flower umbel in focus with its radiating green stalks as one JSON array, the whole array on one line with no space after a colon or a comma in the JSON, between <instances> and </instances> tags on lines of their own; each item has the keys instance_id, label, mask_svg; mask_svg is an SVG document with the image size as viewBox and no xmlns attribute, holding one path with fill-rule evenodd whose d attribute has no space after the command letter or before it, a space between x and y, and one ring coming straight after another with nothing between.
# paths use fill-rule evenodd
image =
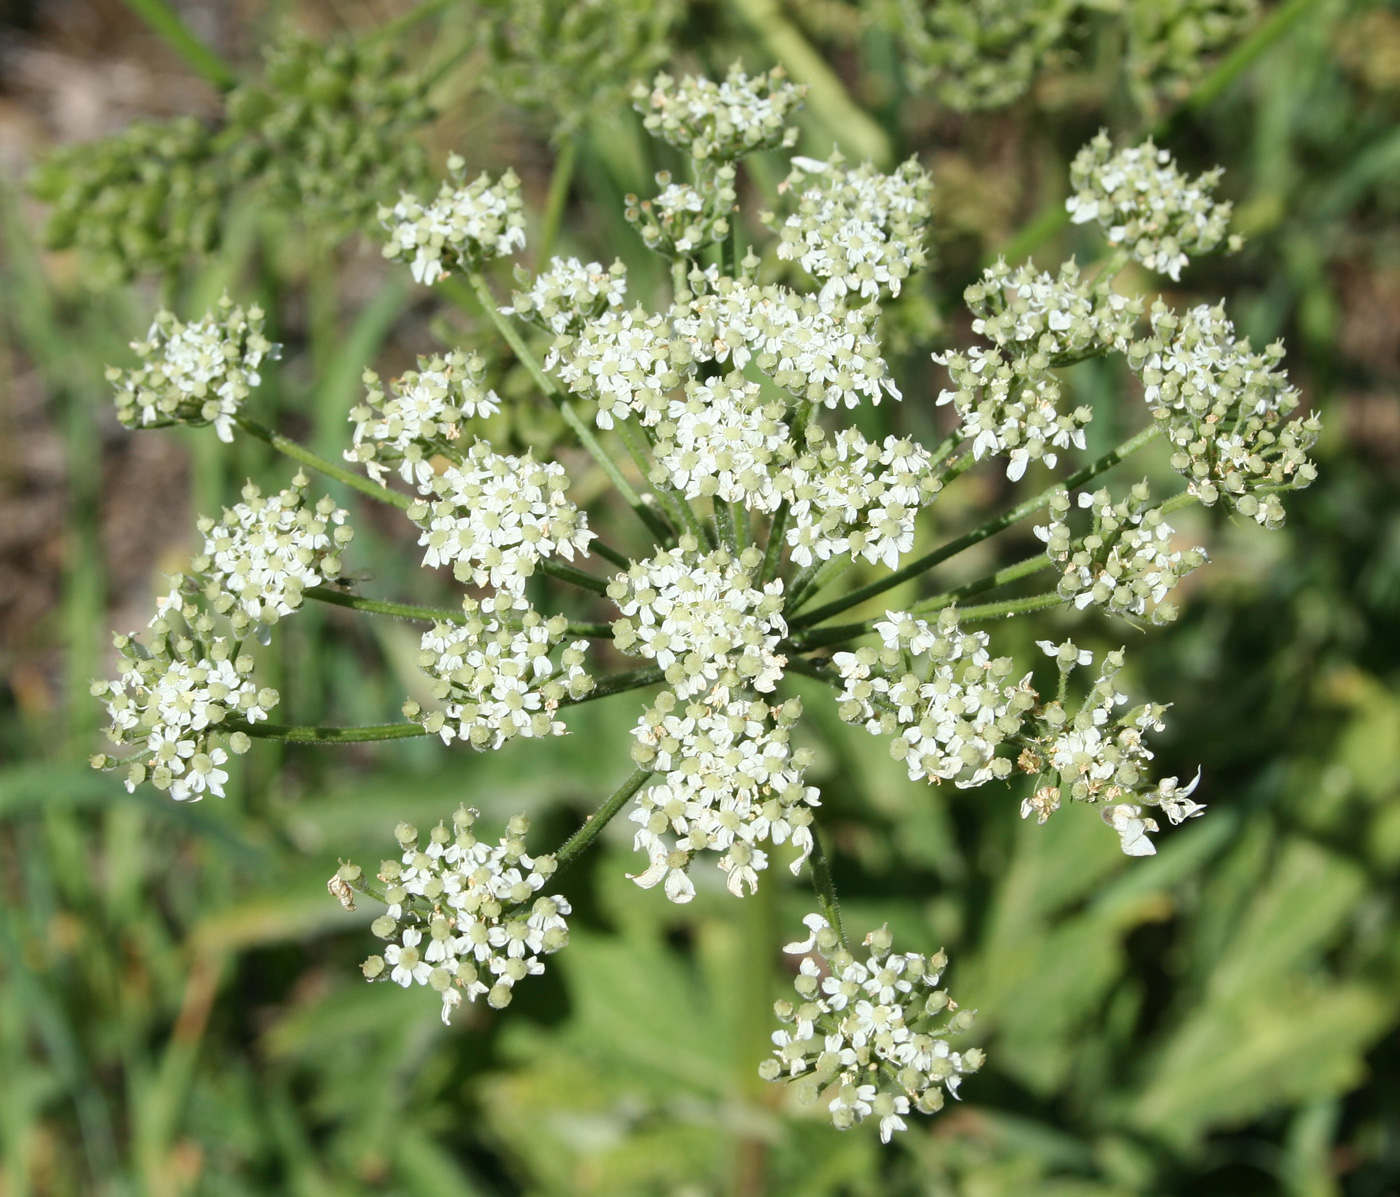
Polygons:
<instances>
[{"instance_id":1,"label":"entire white flower umbel in focus with its radiating green stalks","mask_svg":"<svg viewBox=\"0 0 1400 1197\"><path fill-rule=\"evenodd\" d=\"M671 266L661 307L629 295L620 263L559 258L533 277L517 270L503 305L483 270L524 245L512 175L468 181L452 160L435 197L405 195L381 210L388 256L423 284L458 276L475 291L539 400L615 486L615 511L581 503L573 452L511 454L483 437L483 419L507 400L487 385L479 350L423 357L388 382L367 372L347 469L242 410L276 356L260 314L224 301L185 325L162 312L136 346L144 364L113 372L123 421L262 437L399 508L424 568L463 592L455 608L361 595L343 577L344 511L314 498L305 475L276 496L249 487L221 519L200 522L203 552L146 640L119 640L123 672L97 693L126 755L97 763L195 799L223 791L228 752L255 738L431 735L493 750L566 734L578 703L645 690L627 745L634 771L557 851L532 854L522 816L493 844L463 809L426 840L400 826L400 851L377 879L353 864L332 878L342 902L385 903L374 931L386 946L365 976L435 990L444 1019L463 1001L505 1005L567 942L570 904L554 874L617 815L631 825L631 879L676 903L708 879L746 897L773 883L774 862L809 869L820 911L790 948L804 956L799 1001L778 1004L785 1029L760 1071L820 1100L836 1127L875 1119L889 1140L956 1096L983 1057L952 1046L972 1015L938 988L942 953L896 953L883 928L862 958L850 949L791 675L825 683L840 718L885 741L911 778L973 788L1019 776L1022 816L1095 805L1126 854L1148 855L1163 822L1204 808L1191 798L1200 776L1154 777L1149 736L1163 708L1130 703L1123 652L1046 638L1050 662L1018 664L976 624L1054 608L1166 622L1176 584L1207 560L1168 517L1225 504L1277 526L1281 493L1313 477L1317 424L1296 414L1280 347L1256 353L1218 308L1158 301L1144 321L1142 300L1116 290L1130 258L1175 279L1224 244L1228 206L1211 196L1214 174L1187 179L1151 143L1112 153L1100 139L1077 161L1070 210L1117 248L1056 273L988 269L966 294L980 343L937 357L951 385L934 406L951 409L949 435L931 447L868 438L853 412L903 399L883 356L882 305L925 265L931 183L914 161L886 175L836 154L794 160L780 209L760 214L773 238L764 265L736 218L736 168L750 151L794 144L801 101L780 73L738 67L721 83L662 74L636 91L647 129L690 158L683 179L662 176L657 196L627 200ZM1065 403L1060 371L1105 354L1126 357L1141 381L1144 427L1078 463L1093 413ZM1161 498L1145 482L1089 486L1158 437L1184 489ZM914 556L920 514L987 458L1014 486L1033 472L1051 482ZM1043 553L900 609L871 606L1032 518ZM631 538L624 549L609 543L617 533ZM840 589L851 567L867 581ZM1047 588L1025 592L1039 574L1051 575ZM536 606L542 585L560 594L547 613ZM1016 592L966 603L1008 587ZM834 598L818 605L822 594ZM253 680L251 641L308 601L427 624L426 699L405 703L405 722L269 721L277 694ZM857 606L865 619L833 622ZM619 655L633 668L610 672Z\"/></svg>"}]
</instances>

